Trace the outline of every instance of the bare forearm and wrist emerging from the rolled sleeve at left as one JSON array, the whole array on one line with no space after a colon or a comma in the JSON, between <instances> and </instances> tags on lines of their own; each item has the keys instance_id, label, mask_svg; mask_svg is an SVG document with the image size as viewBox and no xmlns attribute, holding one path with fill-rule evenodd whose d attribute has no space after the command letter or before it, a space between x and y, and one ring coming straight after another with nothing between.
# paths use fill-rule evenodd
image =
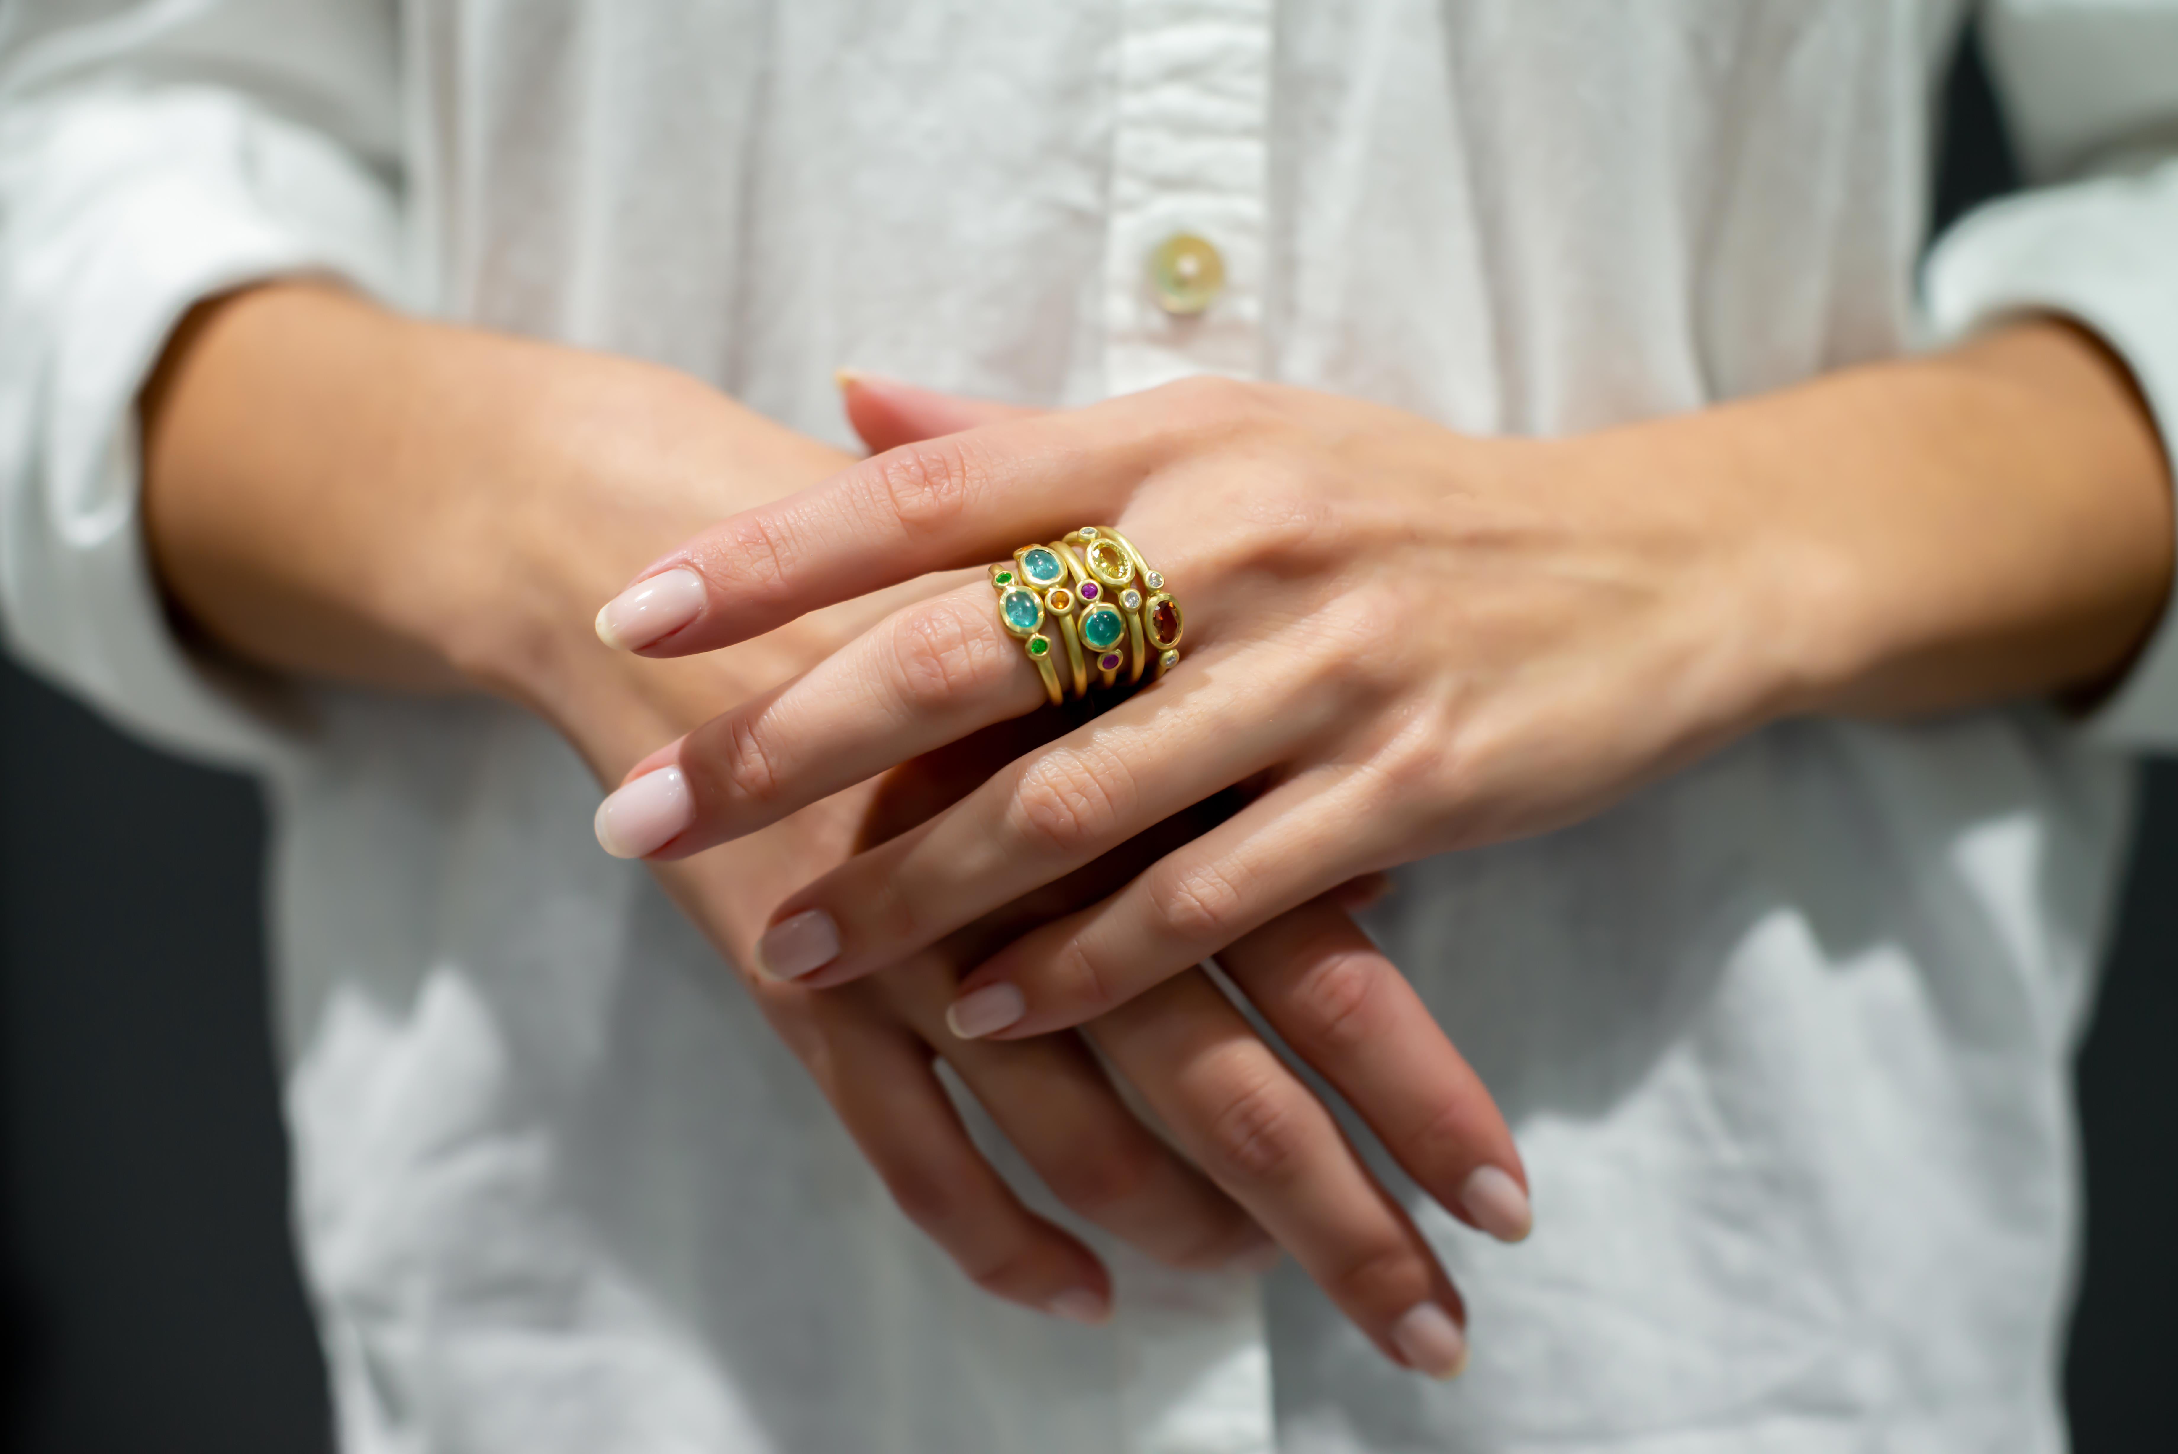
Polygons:
<instances>
[{"instance_id":1,"label":"bare forearm and wrist emerging from the rolled sleeve at left","mask_svg":"<svg viewBox=\"0 0 2178 1454\"><path fill-rule=\"evenodd\" d=\"M314 286L198 310L144 434L155 567L218 647L555 719L629 671L590 615L634 569L845 460L664 368Z\"/></svg>"}]
</instances>

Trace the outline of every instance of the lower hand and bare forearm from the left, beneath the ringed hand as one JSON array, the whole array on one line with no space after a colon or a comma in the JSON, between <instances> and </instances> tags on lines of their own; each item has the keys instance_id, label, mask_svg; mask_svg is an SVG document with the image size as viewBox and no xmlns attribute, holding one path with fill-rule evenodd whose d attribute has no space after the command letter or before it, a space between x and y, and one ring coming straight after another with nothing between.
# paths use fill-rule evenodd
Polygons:
<instances>
[{"instance_id":1,"label":"lower hand and bare forearm from the left, beneath the ringed hand","mask_svg":"<svg viewBox=\"0 0 2178 1454\"><path fill-rule=\"evenodd\" d=\"M207 650L296 676L497 693L558 728L601 783L719 713L775 702L854 643L865 700L895 713L917 715L954 680L943 632L886 632L915 619L904 608L947 599L958 578L795 608L686 661L597 641L597 604L643 560L856 467L664 368L407 320L294 283L192 314L142 412L150 556ZM869 401L856 410L880 440L904 425L1004 414L965 401L915 421ZM891 654L871 656L873 643ZM882 770L767 802L760 826L651 872L734 966L749 966L788 892L969 800L993 761L1037 752L1069 722L1024 706L980 730L960 726L930 752L893 752ZM1429 1245L1200 970L1165 977L1080 1033L1008 1044L945 1025L963 970L1096 905L1228 813L1224 800L1191 804L1117 852L891 955L893 972L860 985L743 979L902 1210L991 1293L1098 1321L1111 1280L980 1158L937 1059L1087 1221L1176 1267L1283 1247L1387 1358L1455 1373L1464 1312ZM1346 916L1342 905L1366 894L1366 881L1326 885L1265 920L1226 970L1420 1186L1472 1221L1470 1177L1494 1168L1525 1190L1525 1173L1488 1092ZM1346 1033L1357 994L1398 1033L1381 1044ZM1128 1112L1111 1075L1170 1142ZM1525 1201L1518 1225L1498 1219L1496 1229L1525 1234ZM1448 1319L1451 1341L1411 1336L1427 1308Z\"/></svg>"}]
</instances>

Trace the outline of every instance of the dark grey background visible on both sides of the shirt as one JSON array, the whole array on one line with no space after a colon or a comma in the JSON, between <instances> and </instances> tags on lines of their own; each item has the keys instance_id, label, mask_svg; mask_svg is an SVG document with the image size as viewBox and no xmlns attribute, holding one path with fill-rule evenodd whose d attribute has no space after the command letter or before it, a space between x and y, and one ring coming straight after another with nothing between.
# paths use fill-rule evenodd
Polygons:
<instances>
[{"instance_id":1,"label":"dark grey background visible on both sides of the shirt","mask_svg":"<svg viewBox=\"0 0 2178 1454\"><path fill-rule=\"evenodd\" d=\"M2012 185L1971 44L1938 218ZM255 789L0 667L0 1447L329 1447L266 1011ZM2178 767L2080 1055L2080 1454L2169 1447L2178 1354Z\"/></svg>"}]
</instances>

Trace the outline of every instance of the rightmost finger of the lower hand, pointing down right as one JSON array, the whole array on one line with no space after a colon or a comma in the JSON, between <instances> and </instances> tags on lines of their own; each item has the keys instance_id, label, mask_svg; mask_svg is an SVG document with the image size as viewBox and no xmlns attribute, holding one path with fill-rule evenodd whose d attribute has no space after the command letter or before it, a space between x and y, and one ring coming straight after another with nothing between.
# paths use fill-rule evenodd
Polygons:
<instances>
[{"instance_id":1,"label":"rightmost finger of the lower hand, pointing down right","mask_svg":"<svg viewBox=\"0 0 2178 1454\"><path fill-rule=\"evenodd\" d=\"M1344 909L1302 905L1218 950L1218 964L1416 1186L1503 1243L1529 1234L1527 1173L1505 1116Z\"/></svg>"}]
</instances>

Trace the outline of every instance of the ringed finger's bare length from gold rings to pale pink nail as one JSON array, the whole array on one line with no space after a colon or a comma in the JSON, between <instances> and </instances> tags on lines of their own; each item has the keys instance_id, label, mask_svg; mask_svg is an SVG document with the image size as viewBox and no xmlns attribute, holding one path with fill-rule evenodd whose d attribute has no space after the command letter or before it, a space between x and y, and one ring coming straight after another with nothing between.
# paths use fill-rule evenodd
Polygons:
<instances>
[{"instance_id":1,"label":"ringed finger's bare length from gold rings to pale pink nail","mask_svg":"<svg viewBox=\"0 0 2178 1454\"><path fill-rule=\"evenodd\" d=\"M991 589L947 591L653 752L599 804L597 839L682 859L1043 702Z\"/></svg>"}]
</instances>

